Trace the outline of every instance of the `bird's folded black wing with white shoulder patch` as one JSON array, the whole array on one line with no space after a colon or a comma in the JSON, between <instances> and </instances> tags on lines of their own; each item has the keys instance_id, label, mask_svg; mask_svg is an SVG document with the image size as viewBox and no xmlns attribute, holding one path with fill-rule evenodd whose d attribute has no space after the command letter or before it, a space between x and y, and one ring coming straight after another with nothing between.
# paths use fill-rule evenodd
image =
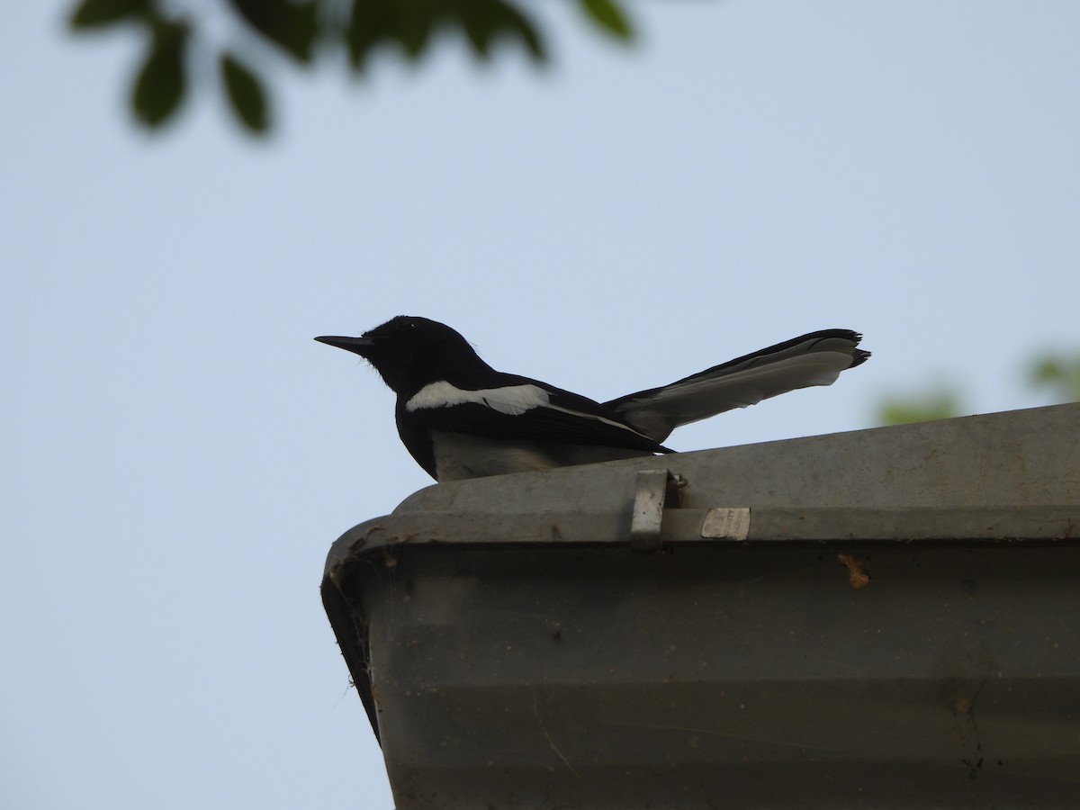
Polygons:
<instances>
[{"instance_id":1,"label":"bird's folded black wing with white shoulder patch","mask_svg":"<svg viewBox=\"0 0 1080 810\"><path fill-rule=\"evenodd\" d=\"M405 402L406 418L485 438L671 453L599 403L525 377L502 377L505 384L483 389L432 382Z\"/></svg>"}]
</instances>

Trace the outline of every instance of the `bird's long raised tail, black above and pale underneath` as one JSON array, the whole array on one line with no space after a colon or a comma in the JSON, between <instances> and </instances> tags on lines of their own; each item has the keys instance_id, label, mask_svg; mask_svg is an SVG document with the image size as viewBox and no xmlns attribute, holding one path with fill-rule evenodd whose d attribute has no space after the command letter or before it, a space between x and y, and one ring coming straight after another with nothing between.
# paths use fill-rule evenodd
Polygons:
<instances>
[{"instance_id":1,"label":"bird's long raised tail, black above and pale underneath","mask_svg":"<svg viewBox=\"0 0 1080 810\"><path fill-rule=\"evenodd\" d=\"M799 388L832 384L842 370L869 357L856 348L862 337L849 329L812 332L604 405L663 442L681 424Z\"/></svg>"}]
</instances>

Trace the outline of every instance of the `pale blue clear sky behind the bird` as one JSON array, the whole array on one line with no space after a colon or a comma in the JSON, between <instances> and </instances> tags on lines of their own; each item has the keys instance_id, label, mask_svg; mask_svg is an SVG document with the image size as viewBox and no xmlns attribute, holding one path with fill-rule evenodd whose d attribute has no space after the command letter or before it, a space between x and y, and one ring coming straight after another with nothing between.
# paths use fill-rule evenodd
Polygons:
<instances>
[{"instance_id":1,"label":"pale blue clear sky behind the bird","mask_svg":"<svg viewBox=\"0 0 1080 810\"><path fill-rule=\"evenodd\" d=\"M1080 343L1080 4L542 6L555 65L457 46L282 71L253 143L200 93L148 137L139 48L0 13L0 806L390 808L322 612L330 542L430 482L311 340L444 320L597 399L824 327L874 359L679 449L867 427L955 379L1039 404Z\"/></svg>"}]
</instances>

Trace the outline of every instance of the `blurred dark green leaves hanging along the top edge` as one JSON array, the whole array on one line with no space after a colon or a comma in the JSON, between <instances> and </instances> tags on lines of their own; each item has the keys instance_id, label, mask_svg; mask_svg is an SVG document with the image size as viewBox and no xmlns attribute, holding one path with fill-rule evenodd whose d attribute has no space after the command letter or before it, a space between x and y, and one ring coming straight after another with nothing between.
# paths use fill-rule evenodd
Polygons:
<instances>
[{"instance_id":1,"label":"blurred dark green leaves hanging along the top edge","mask_svg":"<svg viewBox=\"0 0 1080 810\"><path fill-rule=\"evenodd\" d=\"M619 42L634 38L621 0L577 0L596 29ZM314 63L319 53L343 49L354 72L374 54L390 48L411 60L429 53L437 33L456 35L473 56L490 60L497 43L537 65L548 59L545 38L526 0L228 0L231 22L249 38L270 45L294 65ZM187 73L208 71L190 58L216 58L221 84L237 118L251 132L270 129L266 82L251 64L228 48L207 44L202 31L214 5L194 5L186 16L166 0L81 0L69 18L72 31L99 31L135 23L150 45L136 73L132 110L150 127L172 121L188 89ZM198 43L197 46L189 46ZM269 57L268 57L269 58Z\"/></svg>"}]
</instances>

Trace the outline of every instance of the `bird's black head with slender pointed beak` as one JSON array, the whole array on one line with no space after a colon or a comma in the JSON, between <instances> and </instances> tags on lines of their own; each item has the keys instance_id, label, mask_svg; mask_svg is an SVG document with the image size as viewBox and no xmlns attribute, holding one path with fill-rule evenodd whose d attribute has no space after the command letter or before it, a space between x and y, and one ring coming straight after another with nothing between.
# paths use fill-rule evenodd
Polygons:
<instances>
[{"instance_id":1,"label":"bird's black head with slender pointed beak","mask_svg":"<svg viewBox=\"0 0 1080 810\"><path fill-rule=\"evenodd\" d=\"M315 340L359 354L399 394L415 392L434 381L440 369L483 363L455 329L413 315L397 315L360 337L325 336Z\"/></svg>"}]
</instances>

